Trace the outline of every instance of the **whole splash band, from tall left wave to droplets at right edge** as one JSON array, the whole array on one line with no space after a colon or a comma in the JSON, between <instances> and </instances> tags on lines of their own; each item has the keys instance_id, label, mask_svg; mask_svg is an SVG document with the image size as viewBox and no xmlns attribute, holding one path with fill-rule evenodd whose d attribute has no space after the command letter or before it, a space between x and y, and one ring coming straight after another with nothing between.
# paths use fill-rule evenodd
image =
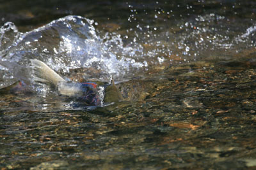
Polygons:
<instances>
[{"instance_id":1,"label":"whole splash band, from tall left wave to droplets at right edge","mask_svg":"<svg viewBox=\"0 0 256 170\"><path fill-rule=\"evenodd\" d=\"M163 20L170 25L148 25L143 22L146 18L138 21L136 9L129 8L131 27L120 32L97 31L93 20L73 15L25 33L6 22L0 29L0 87L18 79L31 81L30 59L42 60L60 73L91 68L92 73L100 74L90 76L109 81L111 75L122 80L143 76L143 71L173 61L232 57L244 48L255 48L255 24L236 29L232 27L236 22L215 13L173 22L167 20L174 16L172 10L157 8L147 20L152 17L154 22Z\"/></svg>"}]
</instances>

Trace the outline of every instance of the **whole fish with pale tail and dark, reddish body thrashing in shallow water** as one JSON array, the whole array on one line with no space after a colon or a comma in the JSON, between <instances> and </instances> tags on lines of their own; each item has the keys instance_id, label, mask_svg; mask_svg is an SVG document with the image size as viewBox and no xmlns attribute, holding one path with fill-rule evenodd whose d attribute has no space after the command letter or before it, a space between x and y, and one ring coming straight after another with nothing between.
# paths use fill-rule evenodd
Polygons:
<instances>
[{"instance_id":1,"label":"whole fish with pale tail and dark, reddish body thrashing in shallow water","mask_svg":"<svg viewBox=\"0 0 256 170\"><path fill-rule=\"evenodd\" d=\"M102 101L111 103L123 100L113 80L111 83L101 81L68 82L40 60L31 60L31 65L33 67L34 80L54 85L61 95L79 97L86 104L94 106L99 106Z\"/></svg>"}]
</instances>

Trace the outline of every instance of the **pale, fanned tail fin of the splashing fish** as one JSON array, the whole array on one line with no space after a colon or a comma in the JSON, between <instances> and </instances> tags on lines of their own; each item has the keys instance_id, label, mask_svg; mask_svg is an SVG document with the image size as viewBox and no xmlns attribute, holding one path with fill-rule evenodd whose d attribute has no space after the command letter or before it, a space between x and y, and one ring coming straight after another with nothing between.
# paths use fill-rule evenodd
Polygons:
<instances>
[{"instance_id":1,"label":"pale, fanned tail fin of the splashing fish","mask_svg":"<svg viewBox=\"0 0 256 170\"><path fill-rule=\"evenodd\" d=\"M60 81L65 81L44 62L36 59L32 59L30 61L31 66L33 66L33 78L35 81L40 81L41 83L51 83L55 86L57 86Z\"/></svg>"}]
</instances>

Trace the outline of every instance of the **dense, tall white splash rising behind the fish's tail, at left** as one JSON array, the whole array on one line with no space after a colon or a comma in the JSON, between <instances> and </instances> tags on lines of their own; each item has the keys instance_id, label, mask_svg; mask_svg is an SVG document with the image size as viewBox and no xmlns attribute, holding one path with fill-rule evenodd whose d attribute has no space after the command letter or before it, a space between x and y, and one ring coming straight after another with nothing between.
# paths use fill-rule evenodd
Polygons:
<instances>
[{"instance_id":1,"label":"dense, tall white splash rising behind the fish's tail, at left","mask_svg":"<svg viewBox=\"0 0 256 170\"><path fill-rule=\"evenodd\" d=\"M117 57L109 51L109 46L114 43L123 48L120 36L112 36L108 41L100 39L92 24L93 20L68 16L22 33L13 23L7 22L1 27L1 78L29 80L29 59L42 60L64 73L69 69L93 67L102 72L101 80L108 80L109 75L124 76L132 67L147 65L147 62ZM130 52L132 49L125 50Z\"/></svg>"}]
</instances>

